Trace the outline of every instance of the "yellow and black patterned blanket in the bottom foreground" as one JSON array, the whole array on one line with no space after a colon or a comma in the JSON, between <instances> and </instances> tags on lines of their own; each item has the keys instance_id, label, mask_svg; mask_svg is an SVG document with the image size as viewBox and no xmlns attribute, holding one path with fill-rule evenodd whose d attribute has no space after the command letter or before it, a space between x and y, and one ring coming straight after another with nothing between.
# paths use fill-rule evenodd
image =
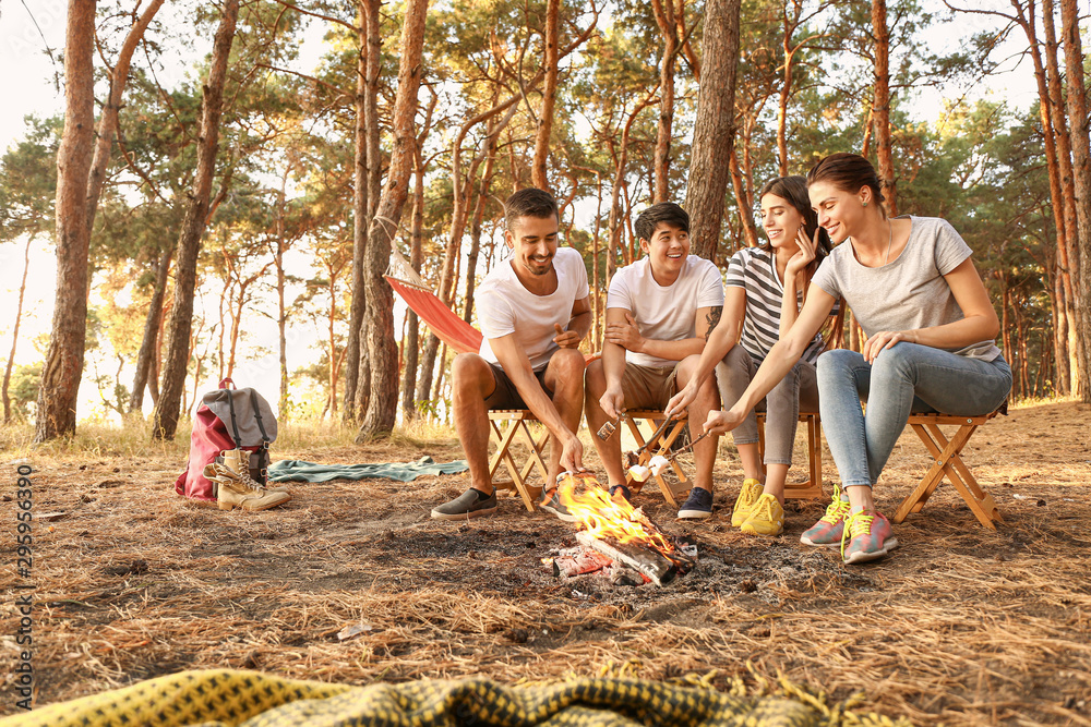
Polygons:
<instances>
[{"instance_id":1,"label":"yellow and black patterned blanket in the bottom foreground","mask_svg":"<svg viewBox=\"0 0 1091 727\"><path fill-rule=\"evenodd\" d=\"M488 679L367 687L300 681L232 669L182 671L44 706L3 725L155 727L610 726L894 724L805 693L742 696L709 687L630 678L573 678L501 686Z\"/></svg>"}]
</instances>

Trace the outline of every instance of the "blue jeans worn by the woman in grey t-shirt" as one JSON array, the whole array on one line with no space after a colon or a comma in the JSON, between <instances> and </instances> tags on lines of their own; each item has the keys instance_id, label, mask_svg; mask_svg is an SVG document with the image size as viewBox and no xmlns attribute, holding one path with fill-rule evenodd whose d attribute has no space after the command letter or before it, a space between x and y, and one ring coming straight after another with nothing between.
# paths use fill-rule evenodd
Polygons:
<instances>
[{"instance_id":1,"label":"blue jeans worn by the woman in grey t-shirt","mask_svg":"<svg viewBox=\"0 0 1091 727\"><path fill-rule=\"evenodd\" d=\"M967 359L904 341L874 364L844 349L818 356L818 410L842 487L878 481L910 413L990 414L1010 390L1011 368L1002 356Z\"/></svg>"}]
</instances>

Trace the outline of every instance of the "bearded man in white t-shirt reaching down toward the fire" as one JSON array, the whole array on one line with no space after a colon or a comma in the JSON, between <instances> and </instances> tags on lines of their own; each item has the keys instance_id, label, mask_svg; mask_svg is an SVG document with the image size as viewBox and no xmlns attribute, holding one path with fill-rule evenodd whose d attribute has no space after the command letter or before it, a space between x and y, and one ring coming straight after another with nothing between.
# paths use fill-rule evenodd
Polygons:
<instances>
[{"instance_id":1,"label":"bearded man in white t-shirt reaching down toward the fire","mask_svg":"<svg viewBox=\"0 0 1091 727\"><path fill-rule=\"evenodd\" d=\"M477 292L484 340L478 353L452 364L455 429L466 451L470 488L432 509L440 520L496 511L489 477L489 410L529 409L550 437L549 474L539 504L573 521L556 494L562 470L583 470L576 437L584 404L584 354L577 348L591 325L584 259L558 249L558 206L541 190L519 190L504 205L509 259L484 277ZM704 420L702 420L704 421Z\"/></svg>"}]
</instances>

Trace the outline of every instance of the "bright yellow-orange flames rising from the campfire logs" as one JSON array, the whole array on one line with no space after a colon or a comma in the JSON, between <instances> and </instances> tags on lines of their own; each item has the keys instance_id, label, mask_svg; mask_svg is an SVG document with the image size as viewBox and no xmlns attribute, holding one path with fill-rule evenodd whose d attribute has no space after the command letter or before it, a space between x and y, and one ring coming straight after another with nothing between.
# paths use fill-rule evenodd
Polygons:
<instances>
[{"instance_id":1,"label":"bright yellow-orange flames rising from the campfire logs","mask_svg":"<svg viewBox=\"0 0 1091 727\"><path fill-rule=\"evenodd\" d=\"M675 550L674 545L630 502L619 497L611 498L598 480L586 473L564 473L559 477L558 492L561 504L597 538L612 537L619 543L642 543L667 555ZM576 492L583 481L587 486Z\"/></svg>"}]
</instances>

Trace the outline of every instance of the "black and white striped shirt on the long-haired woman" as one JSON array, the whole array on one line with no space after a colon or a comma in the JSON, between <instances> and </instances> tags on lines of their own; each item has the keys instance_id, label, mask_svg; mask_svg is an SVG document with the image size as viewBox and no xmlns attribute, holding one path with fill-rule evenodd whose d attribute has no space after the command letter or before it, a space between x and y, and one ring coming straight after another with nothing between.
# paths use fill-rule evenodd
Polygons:
<instances>
[{"instance_id":1,"label":"black and white striped shirt on the long-haired woman","mask_svg":"<svg viewBox=\"0 0 1091 727\"><path fill-rule=\"evenodd\" d=\"M784 299L784 284L777 275L772 252L760 247L744 247L731 256L723 284L727 288L742 288L746 291L746 317L740 343L755 361L763 361L769 349L780 340L780 303ZM796 291L799 305L803 304L803 291ZM835 303L832 315L837 314ZM822 335L803 352L803 361L814 363L822 352Z\"/></svg>"}]
</instances>

